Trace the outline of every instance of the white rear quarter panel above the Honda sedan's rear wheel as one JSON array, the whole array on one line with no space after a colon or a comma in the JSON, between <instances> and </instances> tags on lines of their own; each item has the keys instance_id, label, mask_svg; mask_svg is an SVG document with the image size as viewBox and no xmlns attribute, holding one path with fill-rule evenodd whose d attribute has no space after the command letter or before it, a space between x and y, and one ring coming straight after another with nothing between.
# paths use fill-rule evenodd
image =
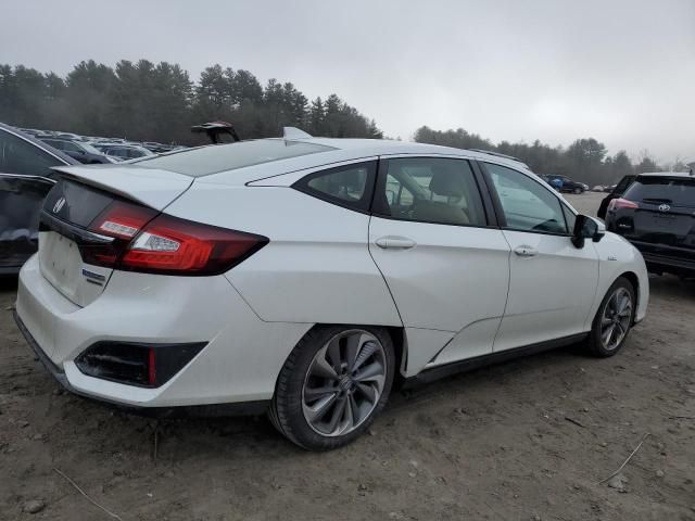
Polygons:
<instances>
[{"instance_id":1,"label":"white rear quarter panel above the Honda sedan's rear wheel","mask_svg":"<svg viewBox=\"0 0 695 521\"><path fill-rule=\"evenodd\" d=\"M167 214L270 242L226 274L265 321L402 326L369 255L369 216L287 187L193 183Z\"/></svg>"}]
</instances>

